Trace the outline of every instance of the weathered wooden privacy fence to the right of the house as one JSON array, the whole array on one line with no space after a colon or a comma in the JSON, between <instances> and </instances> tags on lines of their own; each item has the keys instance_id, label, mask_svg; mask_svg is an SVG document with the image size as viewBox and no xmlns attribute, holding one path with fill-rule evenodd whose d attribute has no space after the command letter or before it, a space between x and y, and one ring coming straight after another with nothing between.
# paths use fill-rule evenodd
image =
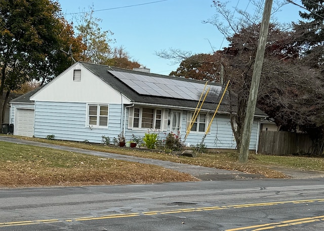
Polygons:
<instances>
[{"instance_id":1,"label":"weathered wooden privacy fence to the right of the house","mask_svg":"<svg viewBox=\"0 0 324 231\"><path fill-rule=\"evenodd\" d=\"M312 144L307 134L289 131L261 131L258 153L273 155L311 153Z\"/></svg>"}]
</instances>

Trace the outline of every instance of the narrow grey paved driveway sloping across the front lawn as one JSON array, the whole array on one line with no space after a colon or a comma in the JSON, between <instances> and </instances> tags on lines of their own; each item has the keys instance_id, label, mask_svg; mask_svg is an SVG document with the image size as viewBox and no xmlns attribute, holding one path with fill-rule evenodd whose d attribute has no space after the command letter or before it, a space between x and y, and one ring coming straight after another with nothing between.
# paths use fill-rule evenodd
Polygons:
<instances>
[{"instance_id":1,"label":"narrow grey paved driveway sloping across the front lawn","mask_svg":"<svg viewBox=\"0 0 324 231\"><path fill-rule=\"evenodd\" d=\"M88 154L88 155L93 155L93 156L100 156L100 157L104 157L104 158L112 158L112 159L116 159L116 160L138 162L138 163L143 163L143 164L153 164L153 165L158 165L158 166L162 166L165 168L173 169L173 170L176 170L179 172L189 173L190 175L193 175L200 180L264 178L264 176L262 176L262 175L248 174L245 172L229 171L229 170L217 169L217 168L208 168L208 167L202 167L202 166L197 166L197 165L181 164L181 163L175 163L175 162L170 162L170 161L147 159L147 158L141 158L141 157L119 155L119 154L114 154L114 153L97 152L97 151L91 151L91 150L86 150L86 149L79 149L79 148L72 148L72 147L53 145L53 144L47 144L47 143L41 143L41 142L20 140L18 138L6 136L6 135L0 135L0 141L10 142L10 143L15 143L15 144L22 144L22 145L46 147L46 148L51 148L51 149L64 150L64 151L68 151L68 152L82 153L82 154Z\"/></svg>"}]
</instances>

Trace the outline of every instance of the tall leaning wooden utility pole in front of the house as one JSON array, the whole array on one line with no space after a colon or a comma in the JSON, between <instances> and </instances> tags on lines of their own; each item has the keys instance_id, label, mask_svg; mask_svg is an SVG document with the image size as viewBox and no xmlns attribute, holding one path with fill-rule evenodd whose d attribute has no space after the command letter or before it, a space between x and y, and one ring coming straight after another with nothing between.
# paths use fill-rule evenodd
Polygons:
<instances>
[{"instance_id":1,"label":"tall leaning wooden utility pole in front of the house","mask_svg":"<svg viewBox=\"0 0 324 231\"><path fill-rule=\"evenodd\" d=\"M263 11L262 22L261 22L261 28L260 28L258 49L257 49L257 54L254 62L250 95L249 95L247 112L244 121L244 130L242 134L241 147L239 152L240 163L248 162L251 130L252 130L252 124L253 124L253 118L255 112L255 105L257 103L257 97L258 97L260 75L262 70L265 45L267 42L271 8L272 8L272 0L266 0L264 11Z\"/></svg>"}]
</instances>

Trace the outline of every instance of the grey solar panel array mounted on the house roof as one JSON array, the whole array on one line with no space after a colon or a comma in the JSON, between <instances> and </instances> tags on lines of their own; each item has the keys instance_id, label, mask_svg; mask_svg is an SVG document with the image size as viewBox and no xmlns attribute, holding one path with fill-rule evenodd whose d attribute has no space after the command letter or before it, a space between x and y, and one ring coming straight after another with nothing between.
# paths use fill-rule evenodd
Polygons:
<instances>
[{"instance_id":1,"label":"grey solar panel array mounted on the house roof","mask_svg":"<svg viewBox=\"0 0 324 231\"><path fill-rule=\"evenodd\" d=\"M109 71L112 75L123 81L140 95L169 97L175 99L198 101L205 82L190 82L179 79L153 77L148 75L133 74L120 71ZM221 86L212 85L208 94L207 102L215 102L220 94ZM205 93L208 86L205 89ZM204 93L204 96L205 96ZM216 98L215 98L216 97Z\"/></svg>"}]
</instances>

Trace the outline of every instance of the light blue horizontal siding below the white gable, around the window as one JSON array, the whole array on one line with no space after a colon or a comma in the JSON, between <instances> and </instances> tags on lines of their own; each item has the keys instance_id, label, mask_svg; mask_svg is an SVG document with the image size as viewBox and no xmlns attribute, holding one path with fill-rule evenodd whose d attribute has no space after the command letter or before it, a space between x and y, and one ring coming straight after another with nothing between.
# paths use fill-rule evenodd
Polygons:
<instances>
[{"instance_id":1,"label":"light blue horizontal siding below the white gable, around the window","mask_svg":"<svg viewBox=\"0 0 324 231\"><path fill-rule=\"evenodd\" d=\"M120 133L120 105L109 105L107 128L86 126L86 103L36 102L35 137L55 135L55 140L101 143L102 135L112 137Z\"/></svg>"}]
</instances>

